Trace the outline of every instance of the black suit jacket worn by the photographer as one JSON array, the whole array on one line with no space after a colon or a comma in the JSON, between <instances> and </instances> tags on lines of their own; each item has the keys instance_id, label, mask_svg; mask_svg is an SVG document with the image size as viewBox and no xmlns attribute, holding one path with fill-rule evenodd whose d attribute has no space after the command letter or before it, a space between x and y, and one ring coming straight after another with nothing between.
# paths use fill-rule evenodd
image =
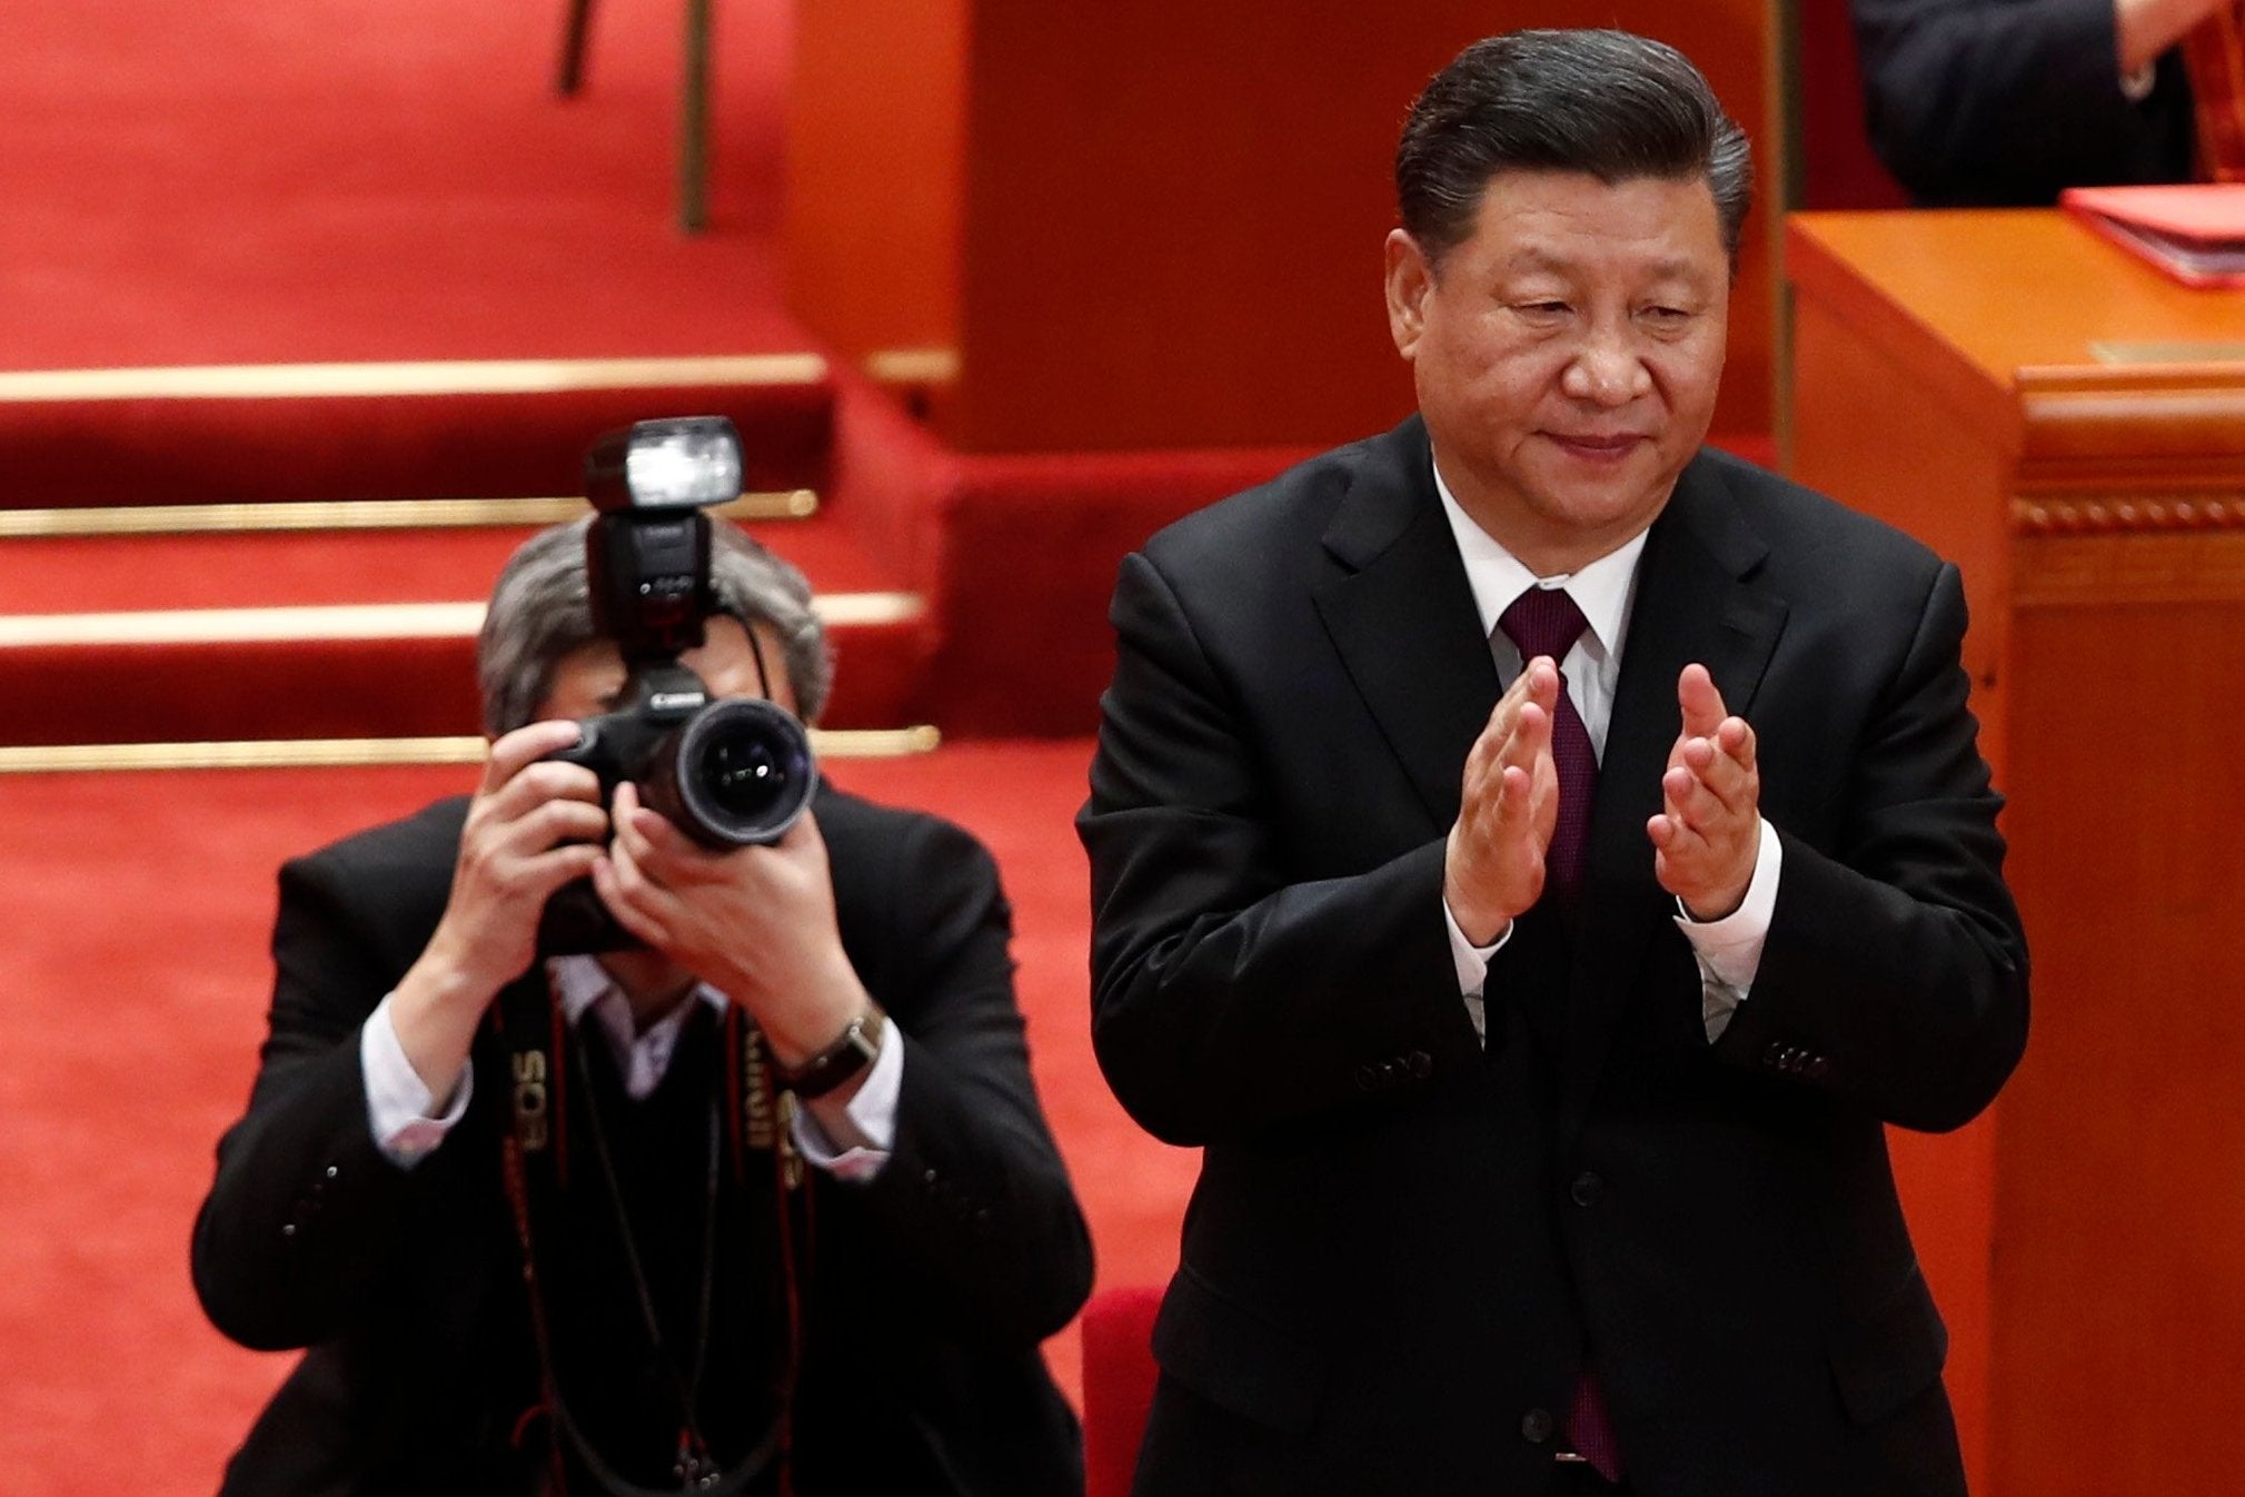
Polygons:
<instances>
[{"instance_id":1,"label":"black suit jacket worn by the photographer","mask_svg":"<svg viewBox=\"0 0 2245 1497\"><path fill-rule=\"evenodd\" d=\"M997 869L934 817L837 790L815 810L905 1077L882 1172L810 1172L797 1490L1080 1490L1037 1342L1089 1293L1091 1243L1030 1086ZM272 1037L218 1147L195 1288L233 1340L310 1353L227 1490L523 1490L503 1459L537 1394L498 1174L507 1062L478 1048L467 1118L411 1172L368 1136L359 1068L361 1023L442 913L462 815L440 801L281 871Z\"/></svg>"}]
</instances>

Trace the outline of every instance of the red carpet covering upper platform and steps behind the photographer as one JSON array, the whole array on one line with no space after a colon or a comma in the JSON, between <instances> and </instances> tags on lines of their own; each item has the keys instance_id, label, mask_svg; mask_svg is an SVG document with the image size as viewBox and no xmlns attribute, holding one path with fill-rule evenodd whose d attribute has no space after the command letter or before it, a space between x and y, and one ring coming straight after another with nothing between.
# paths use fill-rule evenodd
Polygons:
<instances>
[{"instance_id":1,"label":"red carpet covering upper platform and steps behind the photographer","mask_svg":"<svg viewBox=\"0 0 2245 1497\"><path fill-rule=\"evenodd\" d=\"M768 242L790 9L714 9L712 229L687 238L676 4L602 4L572 101L550 92L559 4L4 7L0 366L817 352L779 310ZM853 534L824 379L739 397L0 402L0 505L568 494L593 431L678 408L734 413L752 487L822 489L822 518L784 541L819 593L909 586ZM4 541L0 615L476 599L514 539ZM858 626L842 649L831 725L916 714L925 626ZM251 682L209 651L7 651L0 696L92 709L0 738L471 725L458 651L267 655L276 673ZM310 711L276 723L290 700Z\"/></svg>"}]
</instances>

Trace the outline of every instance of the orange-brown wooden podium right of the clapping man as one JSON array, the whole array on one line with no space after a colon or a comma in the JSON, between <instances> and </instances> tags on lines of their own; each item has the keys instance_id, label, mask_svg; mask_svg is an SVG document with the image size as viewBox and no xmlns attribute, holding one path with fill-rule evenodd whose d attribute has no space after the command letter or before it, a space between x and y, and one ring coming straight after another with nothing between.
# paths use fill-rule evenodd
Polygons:
<instances>
[{"instance_id":1,"label":"orange-brown wooden podium right of the clapping man","mask_svg":"<svg viewBox=\"0 0 2245 1497\"><path fill-rule=\"evenodd\" d=\"M1794 474L1964 568L2027 1059L1895 1138L1991 1497L2245 1484L2245 294L2056 211L1792 222Z\"/></svg>"}]
</instances>

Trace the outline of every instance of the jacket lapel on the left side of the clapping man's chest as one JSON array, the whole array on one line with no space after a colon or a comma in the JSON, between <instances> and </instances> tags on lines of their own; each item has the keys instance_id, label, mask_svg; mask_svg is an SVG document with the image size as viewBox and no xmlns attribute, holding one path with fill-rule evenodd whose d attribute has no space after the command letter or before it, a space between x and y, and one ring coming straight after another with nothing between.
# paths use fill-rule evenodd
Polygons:
<instances>
[{"instance_id":1,"label":"jacket lapel on the left side of the clapping man's chest","mask_svg":"<svg viewBox=\"0 0 2245 1497\"><path fill-rule=\"evenodd\" d=\"M1437 828L1457 819L1466 750L1497 702L1457 539L1435 494L1426 426L1367 444L1325 532L1336 575L1318 615Z\"/></svg>"}]
</instances>

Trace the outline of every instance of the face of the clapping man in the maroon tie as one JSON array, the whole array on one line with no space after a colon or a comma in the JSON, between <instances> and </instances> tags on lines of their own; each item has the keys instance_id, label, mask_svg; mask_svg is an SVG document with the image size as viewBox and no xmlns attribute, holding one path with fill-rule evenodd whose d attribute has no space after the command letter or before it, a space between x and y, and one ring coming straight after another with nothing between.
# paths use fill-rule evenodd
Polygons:
<instances>
[{"instance_id":1,"label":"face of the clapping man in the maroon tie","mask_svg":"<svg viewBox=\"0 0 2245 1497\"><path fill-rule=\"evenodd\" d=\"M1491 177L1441 256L1387 236L1387 323L1459 505L1540 575L1652 523L1715 415L1731 263L1704 177Z\"/></svg>"}]
</instances>

